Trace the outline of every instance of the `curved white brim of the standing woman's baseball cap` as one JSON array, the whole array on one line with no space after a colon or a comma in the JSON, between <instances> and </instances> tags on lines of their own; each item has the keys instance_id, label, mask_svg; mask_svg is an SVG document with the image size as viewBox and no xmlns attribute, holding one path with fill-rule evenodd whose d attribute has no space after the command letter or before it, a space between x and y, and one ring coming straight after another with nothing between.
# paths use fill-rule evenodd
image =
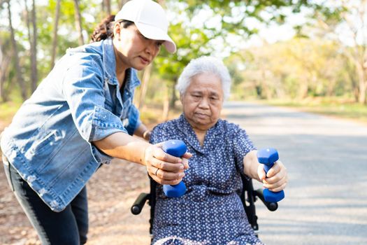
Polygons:
<instances>
[{"instance_id":1,"label":"curved white brim of the standing woman's baseball cap","mask_svg":"<svg viewBox=\"0 0 367 245\"><path fill-rule=\"evenodd\" d=\"M164 41L163 45L166 47L168 52L176 52L175 42L161 29L153 27L152 25L147 25L144 23L135 22L136 28L145 36L146 38L153 40Z\"/></svg>"}]
</instances>

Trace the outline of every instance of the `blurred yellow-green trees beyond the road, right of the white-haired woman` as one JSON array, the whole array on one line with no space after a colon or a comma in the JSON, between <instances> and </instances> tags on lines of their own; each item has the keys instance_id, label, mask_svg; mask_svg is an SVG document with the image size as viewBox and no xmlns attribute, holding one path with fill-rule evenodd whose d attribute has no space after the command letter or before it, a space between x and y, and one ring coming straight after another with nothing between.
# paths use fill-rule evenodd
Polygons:
<instances>
[{"instance_id":1,"label":"blurred yellow-green trees beyond the road, right of the white-haired woman","mask_svg":"<svg viewBox=\"0 0 367 245\"><path fill-rule=\"evenodd\" d=\"M237 92L245 94L243 89L246 87L257 91L259 98L304 99L350 96L353 93L352 81L356 78L351 71L353 67L345 66L347 61L347 57L340 53L338 43L294 38L243 50L227 63L230 67L233 64L237 66L237 82L233 85ZM242 77L243 83L238 82L238 76ZM252 91L247 92L247 96L251 96Z\"/></svg>"}]
</instances>

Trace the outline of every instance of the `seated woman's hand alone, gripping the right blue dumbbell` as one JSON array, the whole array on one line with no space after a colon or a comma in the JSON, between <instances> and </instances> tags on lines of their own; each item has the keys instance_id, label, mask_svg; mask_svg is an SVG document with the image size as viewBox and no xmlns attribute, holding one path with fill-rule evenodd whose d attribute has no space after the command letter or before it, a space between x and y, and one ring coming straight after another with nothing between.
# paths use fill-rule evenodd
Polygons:
<instances>
[{"instance_id":1,"label":"seated woman's hand alone, gripping the right blue dumbbell","mask_svg":"<svg viewBox=\"0 0 367 245\"><path fill-rule=\"evenodd\" d=\"M287 186L287 169L285 168L285 165L280 162L280 160L274 163L273 167L269 169L267 174L265 174L264 166L259 165L257 173L259 174L259 178L264 183L264 188L267 188L273 192L283 190L285 186Z\"/></svg>"}]
</instances>

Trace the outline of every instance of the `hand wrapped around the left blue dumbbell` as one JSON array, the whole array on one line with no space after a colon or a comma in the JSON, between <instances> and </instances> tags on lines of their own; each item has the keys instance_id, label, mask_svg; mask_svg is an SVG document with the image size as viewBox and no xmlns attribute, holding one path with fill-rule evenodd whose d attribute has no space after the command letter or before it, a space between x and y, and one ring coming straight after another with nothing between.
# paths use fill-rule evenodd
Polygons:
<instances>
[{"instance_id":1,"label":"hand wrapped around the left blue dumbbell","mask_svg":"<svg viewBox=\"0 0 367 245\"><path fill-rule=\"evenodd\" d=\"M189 168L188 159L191 153L185 153L182 158L176 158L165 153L162 144L147 147L145 150L145 165L148 174L162 185L176 185L185 176L184 170Z\"/></svg>"}]
</instances>

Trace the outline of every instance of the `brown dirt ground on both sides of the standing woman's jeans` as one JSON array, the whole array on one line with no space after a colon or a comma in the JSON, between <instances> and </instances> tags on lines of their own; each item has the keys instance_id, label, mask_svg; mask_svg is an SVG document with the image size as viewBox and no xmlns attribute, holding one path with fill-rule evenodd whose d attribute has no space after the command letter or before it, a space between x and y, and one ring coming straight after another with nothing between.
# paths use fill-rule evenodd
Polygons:
<instances>
[{"instance_id":1,"label":"brown dirt ground on both sides of the standing woman's jeans","mask_svg":"<svg viewBox=\"0 0 367 245\"><path fill-rule=\"evenodd\" d=\"M2 166L2 165L1 165ZM147 191L145 167L115 161L101 167L88 183L89 241L87 244L149 244L149 209L130 213L139 193ZM0 244L40 244L36 232L0 171Z\"/></svg>"}]
</instances>

